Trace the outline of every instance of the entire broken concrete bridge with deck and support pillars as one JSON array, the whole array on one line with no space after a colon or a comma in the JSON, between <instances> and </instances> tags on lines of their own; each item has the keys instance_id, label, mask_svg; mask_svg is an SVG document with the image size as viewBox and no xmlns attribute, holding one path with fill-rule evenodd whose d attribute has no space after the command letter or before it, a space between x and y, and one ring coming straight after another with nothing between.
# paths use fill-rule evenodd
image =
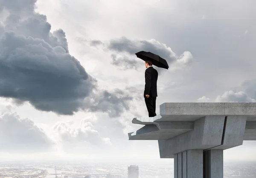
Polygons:
<instances>
[{"instance_id":1,"label":"entire broken concrete bridge with deck and support pillars","mask_svg":"<svg viewBox=\"0 0 256 178\"><path fill-rule=\"evenodd\" d=\"M256 140L256 103L163 103L160 115L129 140L158 140L160 158L174 158L175 178L223 178L223 150Z\"/></svg>"}]
</instances>

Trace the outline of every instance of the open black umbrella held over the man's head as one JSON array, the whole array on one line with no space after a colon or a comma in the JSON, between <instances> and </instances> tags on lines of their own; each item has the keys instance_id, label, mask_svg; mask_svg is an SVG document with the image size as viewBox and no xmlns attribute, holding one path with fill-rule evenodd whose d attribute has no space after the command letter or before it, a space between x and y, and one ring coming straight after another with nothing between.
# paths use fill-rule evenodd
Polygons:
<instances>
[{"instance_id":1,"label":"open black umbrella held over the man's head","mask_svg":"<svg viewBox=\"0 0 256 178\"><path fill-rule=\"evenodd\" d=\"M146 61L146 60L152 61L153 65L159 68L165 68L165 69L169 68L166 60L156 54L153 54L151 52L146 52L146 51L140 51L135 54L138 58L142 59L143 61Z\"/></svg>"}]
</instances>

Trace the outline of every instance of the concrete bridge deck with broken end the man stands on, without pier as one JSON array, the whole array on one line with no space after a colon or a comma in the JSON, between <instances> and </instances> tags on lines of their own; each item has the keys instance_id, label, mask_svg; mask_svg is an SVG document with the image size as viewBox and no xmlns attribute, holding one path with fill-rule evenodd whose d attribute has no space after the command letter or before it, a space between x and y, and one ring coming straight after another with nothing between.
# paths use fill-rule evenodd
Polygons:
<instances>
[{"instance_id":1,"label":"concrete bridge deck with broken end the man stands on, without pier","mask_svg":"<svg viewBox=\"0 0 256 178\"><path fill-rule=\"evenodd\" d=\"M160 110L162 115L132 120L134 124L156 125L158 130L153 126L143 127L128 133L129 139L166 140L191 131L193 123L205 116L241 116L247 118L246 123L250 122L246 125L243 140L256 140L256 103L163 103Z\"/></svg>"}]
</instances>

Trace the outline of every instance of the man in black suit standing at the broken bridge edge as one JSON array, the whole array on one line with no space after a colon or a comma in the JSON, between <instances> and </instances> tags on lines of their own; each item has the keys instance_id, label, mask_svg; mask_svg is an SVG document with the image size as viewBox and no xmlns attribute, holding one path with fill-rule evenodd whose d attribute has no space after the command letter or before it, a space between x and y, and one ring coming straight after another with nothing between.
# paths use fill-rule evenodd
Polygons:
<instances>
[{"instance_id":1,"label":"man in black suit standing at the broken bridge edge","mask_svg":"<svg viewBox=\"0 0 256 178\"><path fill-rule=\"evenodd\" d=\"M144 98L148 109L148 117L156 116L157 77L158 72L152 67L152 61L145 61Z\"/></svg>"}]
</instances>

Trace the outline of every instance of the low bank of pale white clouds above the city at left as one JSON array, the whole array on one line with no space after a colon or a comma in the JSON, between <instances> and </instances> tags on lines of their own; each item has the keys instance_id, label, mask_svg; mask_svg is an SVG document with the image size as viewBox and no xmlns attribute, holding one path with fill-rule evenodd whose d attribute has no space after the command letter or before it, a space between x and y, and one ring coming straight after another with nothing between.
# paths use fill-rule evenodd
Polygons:
<instances>
[{"instance_id":1,"label":"low bank of pale white clouds above the city at left","mask_svg":"<svg viewBox=\"0 0 256 178\"><path fill-rule=\"evenodd\" d=\"M40 128L28 118L20 118L10 111L0 113L0 152L6 153L65 153L84 154L96 150L109 150L108 137L101 136L94 124L97 119L81 119L80 124L58 121L53 127Z\"/></svg>"}]
</instances>

